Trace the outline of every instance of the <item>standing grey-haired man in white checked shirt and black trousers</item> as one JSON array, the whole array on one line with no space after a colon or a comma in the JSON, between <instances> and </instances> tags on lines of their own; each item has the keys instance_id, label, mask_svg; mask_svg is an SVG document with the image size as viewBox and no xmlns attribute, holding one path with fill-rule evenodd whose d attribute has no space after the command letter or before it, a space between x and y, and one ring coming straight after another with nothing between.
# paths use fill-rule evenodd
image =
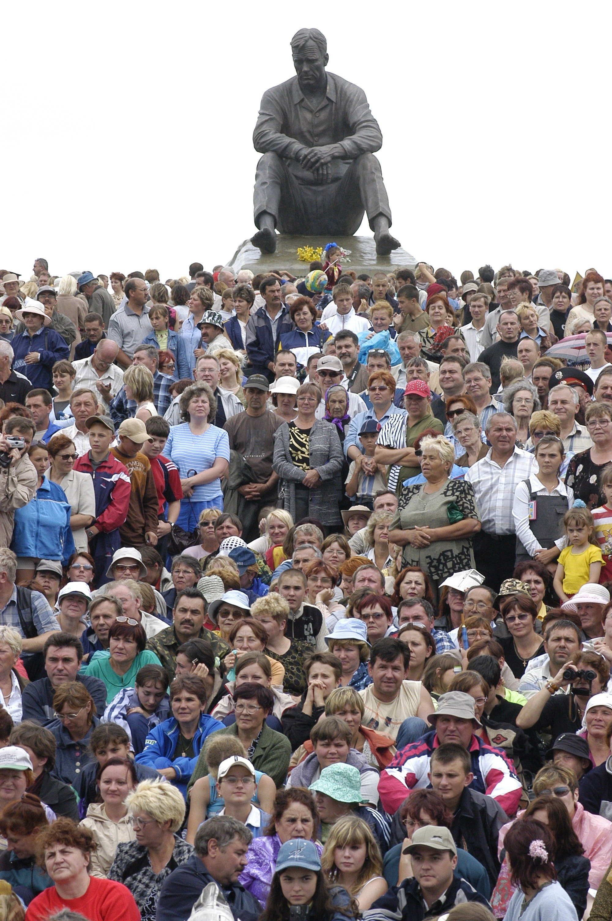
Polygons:
<instances>
[{"instance_id":1,"label":"standing grey-haired man in white checked shirt and black trousers","mask_svg":"<svg viewBox=\"0 0 612 921\"><path fill-rule=\"evenodd\" d=\"M516 448L516 420L496 413L485 426L491 450L466 473L480 512L481 530L474 535L474 559L485 585L499 591L514 570L516 532L512 514L516 487L537 467L533 454Z\"/></svg>"}]
</instances>

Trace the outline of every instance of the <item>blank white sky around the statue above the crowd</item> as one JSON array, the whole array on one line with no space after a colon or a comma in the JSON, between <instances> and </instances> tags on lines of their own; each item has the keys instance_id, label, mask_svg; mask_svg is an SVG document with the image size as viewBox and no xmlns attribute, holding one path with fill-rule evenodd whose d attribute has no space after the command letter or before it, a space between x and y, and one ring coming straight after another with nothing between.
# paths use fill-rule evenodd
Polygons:
<instances>
[{"instance_id":1,"label":"blank white sky around the statue above the crowd","mask_svg":"<svg viewBox=\"0 0 612 921\"><path fill-rule=\"evenodd\" d=\"M231 259L254 231L261 94L318 26L381 126L417 259L610 277L611 18L566 0L6 4L0 266L165 279Z\"/></svg>"}]
</instances>

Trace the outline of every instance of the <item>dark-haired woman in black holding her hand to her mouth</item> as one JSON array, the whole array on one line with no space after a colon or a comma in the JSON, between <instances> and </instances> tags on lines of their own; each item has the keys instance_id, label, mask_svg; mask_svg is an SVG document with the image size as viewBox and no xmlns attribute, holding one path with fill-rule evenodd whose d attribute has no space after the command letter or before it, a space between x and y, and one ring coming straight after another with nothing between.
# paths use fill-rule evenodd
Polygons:
<instances>
[{"instance_id":1,"label":"dark-haired woman in black holding her hand to her mouth","mask_svg":"<svg viewBox=\"0 0 612 921\"><path fill-rule=\"evenodd\" d=\"M296 706L281 717L283 732L291 742L292 752L310 739L310 730L325 715L325 702L342 677L342 663L330 652L316 652L304 663L307 689Z\"/></svg>"}]
</instances>

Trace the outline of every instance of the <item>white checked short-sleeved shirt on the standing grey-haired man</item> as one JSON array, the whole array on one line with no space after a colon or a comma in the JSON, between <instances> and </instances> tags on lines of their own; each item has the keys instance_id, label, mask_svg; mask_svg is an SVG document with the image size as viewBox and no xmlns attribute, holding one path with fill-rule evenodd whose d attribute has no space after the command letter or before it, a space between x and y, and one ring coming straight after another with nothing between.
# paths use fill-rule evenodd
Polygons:
<instances>
[{"instance_id":1,"label":"white checked short-sleeved shirt on the standing grey-haired man","mask_svg":"<svg viewBox=\"0 0 612 921\"><path fill-rule=\"evenodd\" d=\"M482 530L501 537L515 533L512 508L516 487L537 471L537 462L533 454L515 448L500 467L491 460L491 451L469 468L466 482L474 488Z\"/></svg>"}]
</instances>

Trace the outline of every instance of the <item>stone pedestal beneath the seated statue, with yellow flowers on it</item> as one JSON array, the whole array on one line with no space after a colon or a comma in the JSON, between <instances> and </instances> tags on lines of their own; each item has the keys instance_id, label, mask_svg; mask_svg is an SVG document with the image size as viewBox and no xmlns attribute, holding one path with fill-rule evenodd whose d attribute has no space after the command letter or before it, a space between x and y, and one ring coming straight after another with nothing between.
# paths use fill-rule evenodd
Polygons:
<instances>
[{"instance_id":1,"label":"stone pedestal beneath the seated statue, with yellow flowers on it","mask_svg":"<svg viewBox=\"0 0 612 921\"><path fill-rule=\"evenodd\" d=\"M413 269L416 260L402 247L394 250L388 256L379 256L375 250L373 237L336 237L333 241L327 237L290 237L278 235L276 252L261 252L253 246L250 239L246 239L237 248L231 261L228 263L235 272L240 269L250 269L254 274L266 274L273 270L285 269L297 277L304 277L308 272L308 262L300 262L297 258L297 249L302 246L312 246L317 249L327 243L338 243L343 250L350 250L348 262L342 262L342 267L351 269L358 275L364 272L391 272L393 269Z\"/></svg>"}]
</instances>

